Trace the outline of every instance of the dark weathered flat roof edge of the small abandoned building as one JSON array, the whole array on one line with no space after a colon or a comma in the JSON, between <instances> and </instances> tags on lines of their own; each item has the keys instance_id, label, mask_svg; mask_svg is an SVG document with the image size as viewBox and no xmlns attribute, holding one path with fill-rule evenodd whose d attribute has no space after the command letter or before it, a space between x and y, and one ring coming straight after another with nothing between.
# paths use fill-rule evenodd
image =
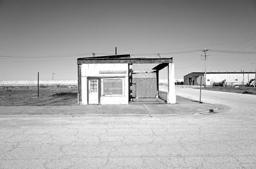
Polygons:
<instances>
[{"instance_id":1,"label":"dark weathered flat roof edge of the small abandoned building","mask_svg":"<svg viewBox=\"0 0 256 169\"><path fill-rule=\"evenodd\" d=\"M172 62L172 57L168 58L131 58L129 54L127 55L106 55L99 57L81 57L77 59L77 64L95 64L95 63L134 63L134 64L144 64L144 63L169 63Z\"/></svg>"}]
</instances>

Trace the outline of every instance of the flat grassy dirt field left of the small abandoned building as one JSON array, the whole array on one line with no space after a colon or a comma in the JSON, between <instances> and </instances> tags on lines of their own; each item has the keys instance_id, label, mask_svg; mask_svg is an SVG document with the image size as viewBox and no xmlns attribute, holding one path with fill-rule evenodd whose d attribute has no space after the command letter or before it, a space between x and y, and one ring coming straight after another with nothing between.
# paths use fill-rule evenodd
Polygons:
<instances>
[{"instance_id":1,"label":"flat grassy dirt field left of the small abandoned building","mask_svg":"<svg viewBox=\"0 0 256 169\"><path fill-rule=\"evenodd\" d=\"M0 106L77 105L76 88L0 89Z\"/></svg>"}]
</instances>

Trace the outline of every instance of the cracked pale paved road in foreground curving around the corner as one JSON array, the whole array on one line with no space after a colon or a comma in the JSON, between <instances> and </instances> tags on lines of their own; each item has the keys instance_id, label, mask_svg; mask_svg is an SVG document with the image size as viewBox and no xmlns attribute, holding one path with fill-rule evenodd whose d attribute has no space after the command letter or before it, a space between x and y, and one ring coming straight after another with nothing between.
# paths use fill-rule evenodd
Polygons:
<instances>
[{"instance_id":1,"label":"cracked pale paved road in foreground curving around the corner","mask_svg":"<svg viewBox=\"0 0 256 169\"><path fill-rule=\"evenodd\" d=\"M177 88L188 98L196 92ZM203 101L231 109L172 117L2 116L0 168L256 168L255 96L204 91Z\"/></svg>"}]
</instances>

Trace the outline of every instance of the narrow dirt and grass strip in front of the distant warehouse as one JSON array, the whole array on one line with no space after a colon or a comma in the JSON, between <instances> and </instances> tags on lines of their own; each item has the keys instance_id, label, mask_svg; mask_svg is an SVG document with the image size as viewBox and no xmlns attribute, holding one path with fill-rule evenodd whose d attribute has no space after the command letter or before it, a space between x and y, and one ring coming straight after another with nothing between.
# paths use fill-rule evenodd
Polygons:
<instances>
[{"instance_id":1,"label":"narrow dirt and grass strip in front of the distant warehouse","mask_svg":"<svg viewBox=\"0 0 256 169\"><path fill-rule=\"evenodd\" d=\"M200 89L200 88L198 88ZM239 87L202 87L204 90L209 91L221 91L221 92L236 92L241 94L256 94L256 87L246 87L246 86L239 86Z\"/></svg>"}]
</instances>

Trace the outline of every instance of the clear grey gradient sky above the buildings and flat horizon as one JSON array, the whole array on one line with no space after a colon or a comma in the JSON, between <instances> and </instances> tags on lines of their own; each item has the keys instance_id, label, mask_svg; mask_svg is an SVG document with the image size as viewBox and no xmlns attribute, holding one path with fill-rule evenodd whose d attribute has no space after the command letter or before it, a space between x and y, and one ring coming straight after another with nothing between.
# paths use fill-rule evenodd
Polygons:
<instances>
[{"instance_id":1,"label":"clear grey gradient sky above the buildings and flat horizon","mask_svg":"<svg viewBox=\"0 0 256 169\"><path fill-rule=\"evenodd\" d=\"M77 57L115 47L173 57L175 78L204 71L205 48L207 71L255 71L256 54L214 52L255 52L255 18L255 0L0 0L0 80L76 80Z\"/></svg>"}]
</instances>

